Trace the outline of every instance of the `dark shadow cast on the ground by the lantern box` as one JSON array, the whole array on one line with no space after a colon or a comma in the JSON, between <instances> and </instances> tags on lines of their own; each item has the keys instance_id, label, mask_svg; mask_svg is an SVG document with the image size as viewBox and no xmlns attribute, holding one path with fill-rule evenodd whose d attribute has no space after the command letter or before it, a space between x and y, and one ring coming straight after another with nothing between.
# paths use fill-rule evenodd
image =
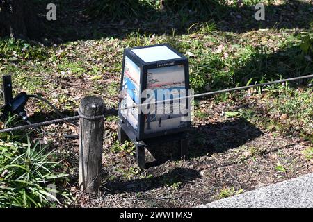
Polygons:
<instances>
[{"instance_id":1,"label":"dark shadow cast on the ground by the lantern box","mask_svg":"<svg viewBox=\"0 0 313 222\"><path fill-rule=\"evenodd\" d=\"M237 148L260 135L262 135L261 130L243 118L216 124L206 124L197 128L193 127L191 132L186 134L186 138L188 138L188 155L186 159L213 153L223 153ZM147 168L157 166L169 160L180 160L178 143L150 146L147 147L147 151L154 157L152 162L146 163Z\"/></svg>"}]
</instances>

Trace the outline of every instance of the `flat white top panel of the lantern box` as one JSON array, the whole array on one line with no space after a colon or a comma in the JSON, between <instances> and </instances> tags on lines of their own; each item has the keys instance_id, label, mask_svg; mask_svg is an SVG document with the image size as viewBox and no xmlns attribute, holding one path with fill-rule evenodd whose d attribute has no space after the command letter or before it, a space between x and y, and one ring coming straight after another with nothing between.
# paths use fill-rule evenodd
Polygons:
<instances>
[{"instance_id":1,"label":"flat white top panel of the lantern box","mask_svg":"<svg viewBox=\"0 0 313 222\"><path fill-rule=\"evenodd\" d=\"M133 51L144 62L157 62L161 60L181 58L167 46L153 46L141 49L132 49L131 51Z\"/></svg>"}]
</instances>

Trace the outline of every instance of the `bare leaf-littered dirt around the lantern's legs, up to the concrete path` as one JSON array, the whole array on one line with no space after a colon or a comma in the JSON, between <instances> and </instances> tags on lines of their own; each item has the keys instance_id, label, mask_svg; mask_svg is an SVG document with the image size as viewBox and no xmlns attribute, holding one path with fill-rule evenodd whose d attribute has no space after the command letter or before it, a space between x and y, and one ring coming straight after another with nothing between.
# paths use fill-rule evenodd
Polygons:
<instances>
[{"instance_id":1,"label":"bare leaf-littered dirt around the lantern's legs, up to the concrete path","mask_svg":"<svg viewBox=\"0 0 313 222\"><path fill-rule=\"evenodd\" d=\"M214 103L213 99L202 101L202 112L207 117L195 117L188 133L186 159L177 158L177 144L148 148L145 170L136 166L134 147L118 151L112 148L122 145L116 145L117 124L106 121L103 183L94 196L81 193L77 187L77 140L53 135L71 175L66 187L76 196L72 207L194 207L311 173L312 159L303 153L312 147L309 141L263 128L254 118L248 121L223 114L237 108L261 109L265 94L258 96L260 99L250 104L246 103L250 98L235 105ZM266 114L261 117L266 118ZM54 127L62 128L63 132L74 131L67 124L49 126L47 130Z\"/></svg>"}]
</instances>

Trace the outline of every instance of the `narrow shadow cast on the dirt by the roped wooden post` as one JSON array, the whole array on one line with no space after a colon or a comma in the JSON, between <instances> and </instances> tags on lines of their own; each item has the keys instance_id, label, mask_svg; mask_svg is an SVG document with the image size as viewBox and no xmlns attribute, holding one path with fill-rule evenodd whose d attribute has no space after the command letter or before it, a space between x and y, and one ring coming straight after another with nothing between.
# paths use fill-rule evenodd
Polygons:
<instances>
[{"instance_id":1,"label":"narrow shadow cast on the dirt by the roped wooden post","mask_svg":"<svg viewBox=\"0 0 313 222\"><path fill-rule=\"evenodd\" d=\"M188 168L175 168L168 173L164 173L161 176L142 178L136 180L107 180L105 187L109 189L109 193L116 194L121 192L144 192L159 187L171 187L179 186L181 184L187 184L192 182L196 178L200 178L200 173L194 169Z\"/></svg>"}]
</instances>

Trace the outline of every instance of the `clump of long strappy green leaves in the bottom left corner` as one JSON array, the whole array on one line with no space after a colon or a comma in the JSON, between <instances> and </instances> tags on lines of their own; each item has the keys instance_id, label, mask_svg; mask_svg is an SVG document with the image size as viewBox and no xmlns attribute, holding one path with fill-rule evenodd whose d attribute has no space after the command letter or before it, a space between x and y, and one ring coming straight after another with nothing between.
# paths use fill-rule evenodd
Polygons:
<instances>
[{"instance_id":1,"label":"clump of long strappy green leaves in the bottom left corner","mask_svg":"<svg viewBox=\"0 0 313 222\"><path fill-rule=\"evenodd\" d=\"M56 207L66 192L56 190L56 182L67 176L57 173L59 162L39 142L26 144L0 141L0 208Z\"/></svg>"}]
</instances>

